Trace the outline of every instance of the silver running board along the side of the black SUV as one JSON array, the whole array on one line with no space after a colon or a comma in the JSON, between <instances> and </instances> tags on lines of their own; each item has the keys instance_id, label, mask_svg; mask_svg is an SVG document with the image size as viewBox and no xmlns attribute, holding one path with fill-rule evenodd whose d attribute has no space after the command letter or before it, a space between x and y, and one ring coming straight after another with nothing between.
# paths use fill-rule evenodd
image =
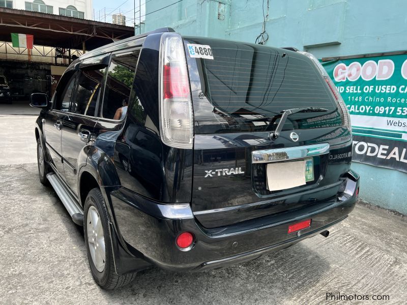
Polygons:
<instances>
[{"instance_id":1,"label":"silver running board along the side of the black SUV","mask_svg":"<svg viewBox=\"0 0 407 305\"><path fill-rule=\"evenodd\" d=\"M61 178L55 173L49 173L47 174L47 179L54 188L55 193L65 205L69 215L72 217L72 221L79 226L83 226L83 209L67 190L64 182L61 181Z\"/></svg>"}]
</instances>

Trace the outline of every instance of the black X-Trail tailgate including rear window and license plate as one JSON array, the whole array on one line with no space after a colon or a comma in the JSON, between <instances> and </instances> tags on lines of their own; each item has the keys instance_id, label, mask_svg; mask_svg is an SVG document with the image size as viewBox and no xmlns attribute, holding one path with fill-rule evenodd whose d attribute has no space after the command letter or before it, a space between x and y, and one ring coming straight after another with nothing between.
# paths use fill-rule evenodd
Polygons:
<instances>
[{"instance_id":1,"label":"black X-Trail tailgate including rear window and license plate","mask_svg":"<svg viewBox=\"0 0 407 305\"><path fill-rule=\"evenodd\" d=\"M351 134L311 60L261 45L184 40L195 120L192 209L198 221L219 227L335 200L340 175L351 162ZM204 56L205 49L212 55ZM283 111L305 107L323 110L289 115L273 138ZM346 158L330 162L335 151ZM269 165L276 161L300 163ZM274 188L273 181L277 185L296 171L300 177Z\"/></svg>"}]
</instances>

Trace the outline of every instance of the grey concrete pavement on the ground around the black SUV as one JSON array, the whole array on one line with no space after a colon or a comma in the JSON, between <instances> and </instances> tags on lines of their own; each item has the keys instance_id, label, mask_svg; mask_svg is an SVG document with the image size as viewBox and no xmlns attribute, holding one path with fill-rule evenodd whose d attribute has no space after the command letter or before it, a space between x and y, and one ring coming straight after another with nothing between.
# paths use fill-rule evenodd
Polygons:
<instances>
[{"instance_id":1,"label":"grey concrete pavement on the ground around the black SUV","mask_svg":"<svg viewBox=\"0 0 407 305\"><path fill-rule=\"evenodd\" d=\"M71 221L52 188L38 180L35 118L4 118L0 131L14 128L0 133L0 141L8 143L0 146L2 304L405 303L407 223L362 206L330 229L327 238L318 235L222 270L174 273L153 268L122 289L103 291L89 270L83 229ZM27 152L24 157L9 157L21 150ZM370 300L327 301L326 293L368 295ZM390 300L371 301L372 295Z\"/></svg>"}]
</instances>

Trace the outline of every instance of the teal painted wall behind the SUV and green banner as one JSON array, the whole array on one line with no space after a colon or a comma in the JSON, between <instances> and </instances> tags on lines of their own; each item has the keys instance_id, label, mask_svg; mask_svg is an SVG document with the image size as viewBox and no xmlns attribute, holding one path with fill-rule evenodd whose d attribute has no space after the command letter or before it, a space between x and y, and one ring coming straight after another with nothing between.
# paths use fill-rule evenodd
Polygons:
<instances>
[{"instance_id":1,"label":"teal painted wall behind the SUV and green banner","mask_svg":"<svg viewBox=\"0 0 407 305\"><path fill-rule=\"evenodd\" d=\"M146 3L146 14L172 1ZM294 46L316 57L407 49L407 1L267 0L266 45ZM261 0L183 0L146 16L146 31L170 26L183 35L255 42L263 24ZM353 163L360 197L407 215L407 174Z\"/></svg>"}]
</instances>

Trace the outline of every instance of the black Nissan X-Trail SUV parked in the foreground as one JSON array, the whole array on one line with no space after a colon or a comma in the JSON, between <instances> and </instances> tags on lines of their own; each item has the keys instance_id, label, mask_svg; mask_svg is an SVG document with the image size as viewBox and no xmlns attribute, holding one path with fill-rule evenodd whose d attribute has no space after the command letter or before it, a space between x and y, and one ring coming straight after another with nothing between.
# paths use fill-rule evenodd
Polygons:
<instances>
[{"instance_id":1,"label":"black Nissan X-Trail SUV parked in the foreground","mask_svg":"<svg viewBox=\"0 0 407 305\"><path fill-rule=\"evenodd\" d=\"M346 106L294 48L163 28L82 55L31 104L40 180L106 289L327 236L358 196Z\"/></svg>"}]
</instances>

